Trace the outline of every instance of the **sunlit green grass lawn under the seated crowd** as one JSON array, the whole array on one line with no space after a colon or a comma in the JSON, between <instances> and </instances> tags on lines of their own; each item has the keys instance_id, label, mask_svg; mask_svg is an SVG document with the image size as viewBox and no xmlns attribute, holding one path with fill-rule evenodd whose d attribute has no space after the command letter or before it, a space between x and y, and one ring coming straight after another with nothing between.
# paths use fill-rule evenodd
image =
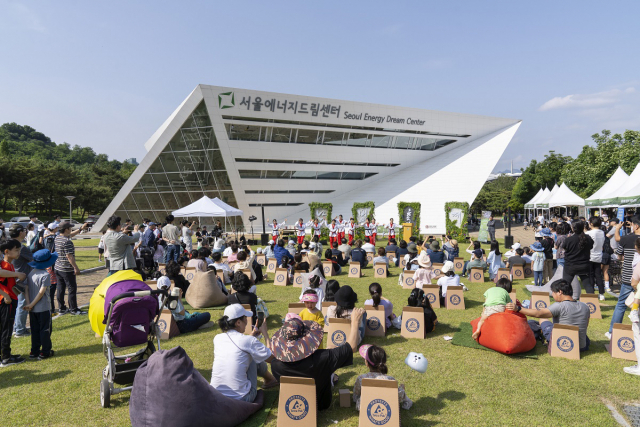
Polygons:
<instances>
[{"instance_id":1,"label":"sunlit green grass lawn under the seated crowd","mask_svg":"<svg viewBox=\"0 0 640 427\"><path fill-rule=\"evenodd\" d=\"M464 250L464 248L463 248ZM78 251L80 252L80 251ZM85 251L83 251L85 252ZM86 251L88 252L88 251ZM94 255L97 259L97 255ZM362 304L368 298L368 286L373 282L371 268L365 277L337 279L350 285L358 293ZM406 304L408 290L397 284L399 269L393 276L377 280L383 295L394 304L400 314ZM272 278L271 278L272 279ZM608 329L615 300L607 297L601 307L604 319L593 320L589 326L591 350L579 361L552 358L547 348L538 344L538 359L516 358L499 353L454 346L445 335L454 335L462 322L480 315L483 293L491 286L470 284L465 292L466 310L437 309L440 324L425 340L406 340L400 331L391 329L384 338L365 338L365 343L384 347L388 355L389 373L404 383L408 396L414 401L409 411L401 410L404 426L503 426L532 424L536 426L616 426L605 402L621 410L623 402L638 399L638 380L623 373L622 368L632 362L612 359L604 348L604 332ZM518 298L528 296L524 285L516 283ZM300 290L272 286L268 281L258 286L272 314L268 319L269 333L281 325L287 304L297 302ZM187 307L188 309L188 307ZM222 308L210 309L214 320L222 315ZM201 310L205 311L205 310ZM627 321L628 323L628 321ZM163 348L182 346L196 368L209 380L213 363L213 337L218 327L178 336L163 342ZM101 371L106 359L100 339L95 338L86 317L63 316L54 321L55 359L25 362L0 370L0 391L5 407L3 425L129 425L129 393L112 397L112 408L102 409L99 400ZM28 354L28 338L14 339L13 352ZM410 351L423 353L429 361L426 374L411 371L404 358ZM367 371L360 357L354 365L343 368L338 388L353 388L358 375ZM160 385L161 386L161 385ZM34 400L37 399L37 400ZM34 410L34 402L44 410ZM277 401L266 425L275 426ZM340 408L337 390L333 405L319 413L318 425L357 426L358 414L354 406Z\"/></svg>"}]
</instances>

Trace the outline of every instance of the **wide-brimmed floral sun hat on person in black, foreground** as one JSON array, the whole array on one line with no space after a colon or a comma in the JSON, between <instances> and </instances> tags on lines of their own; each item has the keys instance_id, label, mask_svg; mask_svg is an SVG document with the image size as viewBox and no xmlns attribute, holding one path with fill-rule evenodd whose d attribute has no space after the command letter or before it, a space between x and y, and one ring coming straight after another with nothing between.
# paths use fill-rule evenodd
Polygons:
<instances>
[{"instance_id":1,"label":"wide-brimmed floral sun hat on person in black, foreground","mask_svg":"<svg viewBox=\"0 0 640 427\"><path fill-rule=\"evenodd\" d=\"M271 351L281 362L297 362L311 356L320 347L323 335L322 326L316 322L288 319L271 337Z\"/></svg>"}]
</instances>

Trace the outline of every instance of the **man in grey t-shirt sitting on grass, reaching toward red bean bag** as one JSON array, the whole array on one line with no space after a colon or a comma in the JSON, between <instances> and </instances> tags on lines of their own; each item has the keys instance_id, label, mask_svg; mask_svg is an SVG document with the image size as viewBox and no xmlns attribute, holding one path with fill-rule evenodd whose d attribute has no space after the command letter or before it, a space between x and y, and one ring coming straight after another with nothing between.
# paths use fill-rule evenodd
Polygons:
<instances>
[{"instance_id":1,"label":"man in grey t-shirt sitting on grass, reaching toward red bean bag","mask_svg":"<svg viewBox=\"0 0 640 427\"><path fill-rule=\"evenodd\" d=\"M516 306L515 303L507 304L507 310L514 310L525 316L537 317L538 319L553 319L553 323L545 320L541 322L540 328L542 335L547 340L551 339L551 332L555 323L563 325L571 325L578 327L578 336L580 338L580 351L588 351L590 340L587 336L587 328L589 327L589 317L591 312L587 304L573 299L573 288L571 284L564 279L556 280L551 284L551 295L555 302L549 308L541 310L522 308ZM529 321L536 323L535 321ZM533 328L532 328L533 329ZM536 328L537 329L537 328Z\"/></svg>"}]
</instances>

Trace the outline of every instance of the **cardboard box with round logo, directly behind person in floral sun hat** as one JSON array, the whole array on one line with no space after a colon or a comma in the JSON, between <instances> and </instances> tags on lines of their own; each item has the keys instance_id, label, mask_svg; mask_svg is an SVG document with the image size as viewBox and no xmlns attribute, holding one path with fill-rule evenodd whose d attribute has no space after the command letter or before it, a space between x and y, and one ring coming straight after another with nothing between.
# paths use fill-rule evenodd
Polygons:
<instances>
[{"instance_id":1,"label":"cardboard box with round logo, directly behind person in floral sun hat","mask_svg":"<svg viewBox=\"0 0 640 427\"><path fill-rule=\"evenodd\" d=\"M317 421L314 379L280 377L278 427L315 427Z\"/></svg>"}]
</instances>

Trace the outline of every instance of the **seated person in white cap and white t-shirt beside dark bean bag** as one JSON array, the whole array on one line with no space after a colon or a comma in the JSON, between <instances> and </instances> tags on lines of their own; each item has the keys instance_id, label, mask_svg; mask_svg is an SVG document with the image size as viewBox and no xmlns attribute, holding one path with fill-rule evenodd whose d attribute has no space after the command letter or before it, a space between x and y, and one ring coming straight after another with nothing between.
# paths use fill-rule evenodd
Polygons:
<instances>
[{"instance_id":1,"label":"seated person in white cap and white t-shirt beside dark bean bag","mask_svg":"<svg viewBox=\"0 0 640 427\"><path fill-rule=\"evenodd\" d=\"M213 368L211 385L226 397L253 402L258 394L258 377L264 378L263 389L275 387L278 380L269 373L267 363L273 354L267 322L245 335L247 317L253 313L240 304L231 304L224 309L218 320L222 333L213 338ZM262 334L265 344L257 340Z\"/></svg>"}]
</instances>

